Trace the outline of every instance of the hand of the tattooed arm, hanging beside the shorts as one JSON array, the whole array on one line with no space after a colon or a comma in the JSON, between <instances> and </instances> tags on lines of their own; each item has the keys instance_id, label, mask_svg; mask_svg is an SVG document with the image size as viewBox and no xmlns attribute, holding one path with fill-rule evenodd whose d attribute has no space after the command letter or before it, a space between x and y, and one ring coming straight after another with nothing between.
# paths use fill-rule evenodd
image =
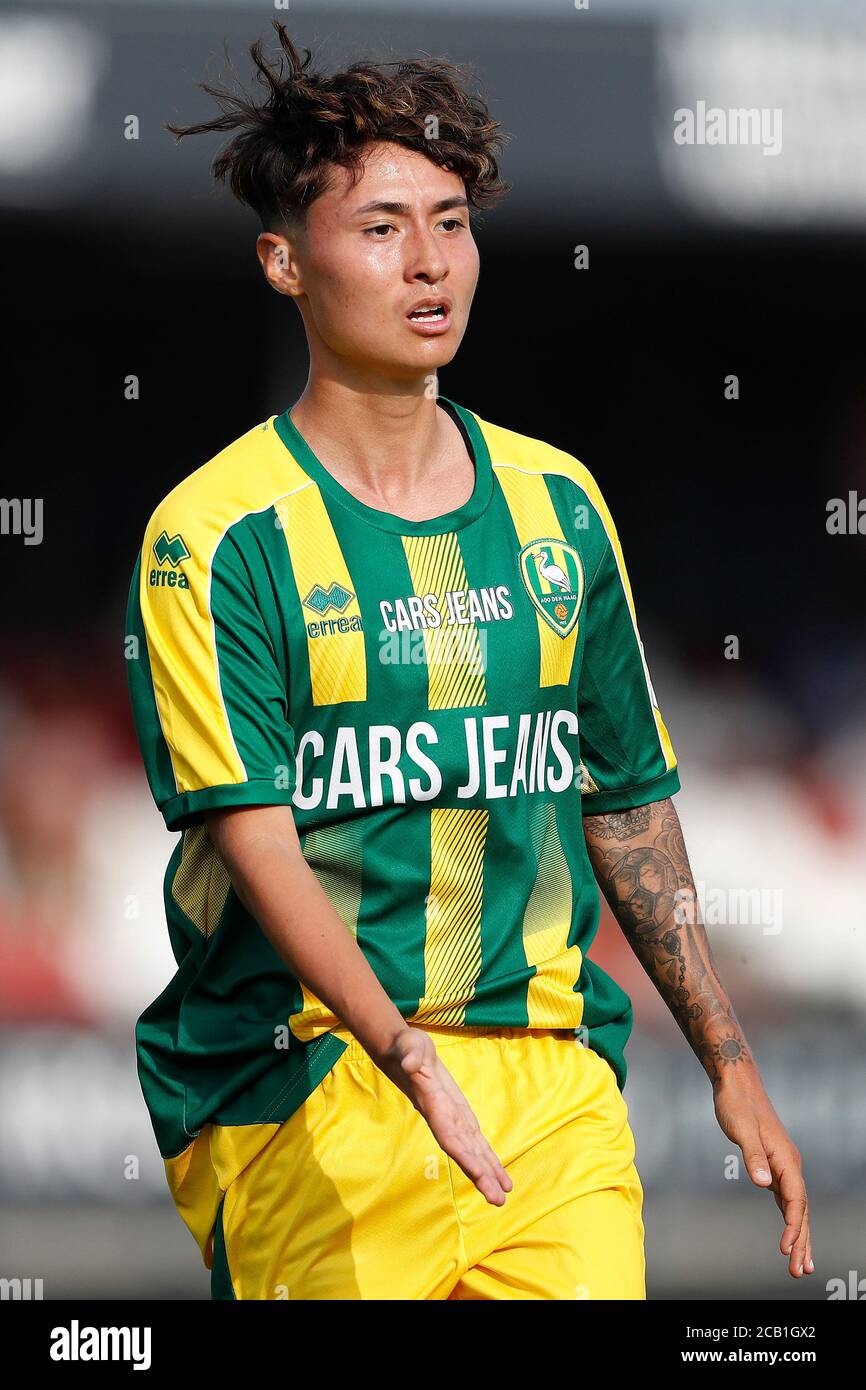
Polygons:
<instances>
[{"instance_id":1,"label":"hand of the tattooed arm, hanging beside the shorts","mask_svg":"<svg viewBox=\"0 0 866 1390\"><path fill-rule=\"evenodd\" d=\"M760 1080L726 1080L714 1087L714 1105L723 1131L742 1150L749 1177L771 1190L785 1219L778 1248L790 1255L788 1273L792 1279L815 1273L801 1155Z\"/></svg>"}]
</instances>

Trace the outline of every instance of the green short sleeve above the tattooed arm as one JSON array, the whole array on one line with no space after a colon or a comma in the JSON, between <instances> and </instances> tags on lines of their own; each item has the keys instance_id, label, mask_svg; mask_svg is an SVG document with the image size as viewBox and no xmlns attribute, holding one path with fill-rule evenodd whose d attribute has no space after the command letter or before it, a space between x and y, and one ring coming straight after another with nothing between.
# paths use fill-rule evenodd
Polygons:
<instances>
[{"instance_id":1,"label":"green short sleeve above the tattooed arm","mask_svg":"<svg viewBox=\"0 0 866 1390\"><path fill-rule=\"evenodd\" d=\"M619 537L599 502L605 543L584 603L578 678L585 816L644 806L680 790L677 758L649 677Z\"/></svg>"}]
</instances>

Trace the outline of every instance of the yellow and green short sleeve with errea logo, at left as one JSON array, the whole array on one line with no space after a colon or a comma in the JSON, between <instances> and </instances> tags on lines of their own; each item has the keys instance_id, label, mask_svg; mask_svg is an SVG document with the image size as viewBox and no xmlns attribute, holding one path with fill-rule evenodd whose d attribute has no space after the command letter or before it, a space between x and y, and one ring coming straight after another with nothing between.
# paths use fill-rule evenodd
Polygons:
<instances>
[{"instance_id":1,"label":"yellow and green short sleeve with errea logo, at left","mask_svg":"<svg viewBox=\"0 0 866 1390\"><path fill-rule=\"evenodd\" d=\"M126 674L147 781L170 830L203 812L291 805L295 735L254 585L231 531L189 546L152 521L126 613ZM210 552L210 553L209 553Z\"/></svg>"}]
</instances>

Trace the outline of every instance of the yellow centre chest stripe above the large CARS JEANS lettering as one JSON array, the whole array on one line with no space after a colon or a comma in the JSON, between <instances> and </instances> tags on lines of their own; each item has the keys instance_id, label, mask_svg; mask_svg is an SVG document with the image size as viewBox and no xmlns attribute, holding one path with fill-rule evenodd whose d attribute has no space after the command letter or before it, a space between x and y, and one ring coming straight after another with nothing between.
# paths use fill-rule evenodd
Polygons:
<instances>
[{"instance_id":1,"label":"yellow centre chest stripe above the large CARS JEANS lettering","mask_svg":"<svg viewBox=\"0 0 866 1390\"><path fill-rule=\"evenodd\" d=\"M435 594L441 627L424 628L430 709L487 705L487 681L475 623L448 623L445 595L466 591L466 567L453 531L445 535L405 535L403 549L418 598ZM487 635L487 632L485 632Z\"/></svg>"}]
</instances>

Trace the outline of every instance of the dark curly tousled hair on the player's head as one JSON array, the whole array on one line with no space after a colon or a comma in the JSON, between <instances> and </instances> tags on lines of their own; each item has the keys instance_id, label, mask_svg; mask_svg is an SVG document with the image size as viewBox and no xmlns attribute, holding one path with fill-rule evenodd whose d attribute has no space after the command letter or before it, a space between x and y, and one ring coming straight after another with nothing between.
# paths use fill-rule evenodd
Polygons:
<instances>
[{"instance_id":1,"label":"dark curly tousled hair on the player's head","mask_svg":"<svg viewBox=\"0 0 866 1390\"><path fill-rule=\"evenodd\" d=\"M328 76L307 71L310 50L302 60L278 19L274 28L282 49L277 63L264 57L260 39L250 46L256 81L267 89L264 100L202 82L222 114L197 125L165 122L178 140L238 131L217 154L213 175L259 214L264 231L303 220L328 186L328 165L349 170L356 182L361 152L373 140L403 145L457 174L473 208L492 206L507 190L496 163L506 136L481 97L467 90L461 68L418 58L353 63Z\"/></svg>"}]
</instances>

